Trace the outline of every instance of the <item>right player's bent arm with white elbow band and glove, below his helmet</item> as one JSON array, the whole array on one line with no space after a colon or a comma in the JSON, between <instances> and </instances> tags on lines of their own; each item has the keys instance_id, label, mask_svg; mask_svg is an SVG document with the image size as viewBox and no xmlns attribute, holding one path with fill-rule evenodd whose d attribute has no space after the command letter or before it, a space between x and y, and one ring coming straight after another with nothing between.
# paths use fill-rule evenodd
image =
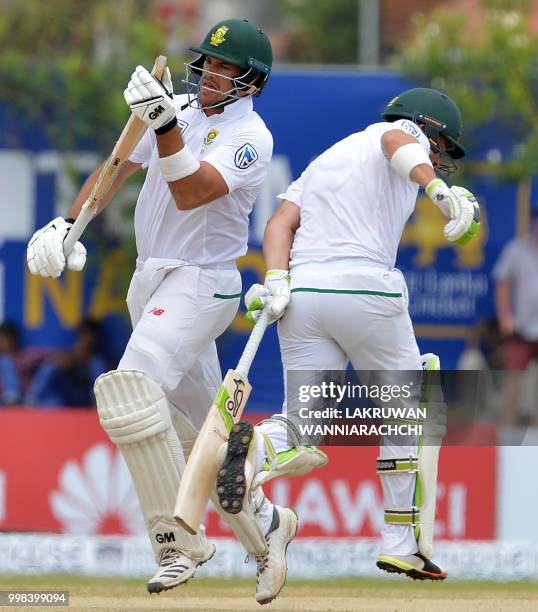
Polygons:
<instances>
[{"instance_id":1,"label":"right player's bent arm with white elbow band and glove, below his helmet","mask_svg":"<svg viewBox=\"0 0 538 612\"><path fill-rule=\"evenodd\" d=\"M450 219L444 228L446 239L459 245L467 244L480 228L478 203L464 187L451 189L436 177L429 143L422 131L414 123L402 121L401 128L387 130L381 136L381 148L391 168L424 187L432 202Z\"/></svg>"}]
</instances>

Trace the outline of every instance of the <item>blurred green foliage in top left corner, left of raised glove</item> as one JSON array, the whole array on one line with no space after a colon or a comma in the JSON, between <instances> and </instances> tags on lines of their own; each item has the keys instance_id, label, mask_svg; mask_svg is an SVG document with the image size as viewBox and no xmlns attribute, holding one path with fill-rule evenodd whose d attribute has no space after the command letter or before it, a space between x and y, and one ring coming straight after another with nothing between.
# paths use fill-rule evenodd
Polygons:
<instances>
[{"instance_id":1,"label":"blurred green foliage in top left corner, left of raised glove","mask_svg":"<svg viewBox=\"0 0 538 612\"><path fill-rule=\"evenodd\" d=\"M4 0L0 101L20 125L39 123L59 150L84 142L110 151L129 116L123 90L137 64L151 67L162 34L149 3L134 0Z\"/></svg>"}]
</instances>

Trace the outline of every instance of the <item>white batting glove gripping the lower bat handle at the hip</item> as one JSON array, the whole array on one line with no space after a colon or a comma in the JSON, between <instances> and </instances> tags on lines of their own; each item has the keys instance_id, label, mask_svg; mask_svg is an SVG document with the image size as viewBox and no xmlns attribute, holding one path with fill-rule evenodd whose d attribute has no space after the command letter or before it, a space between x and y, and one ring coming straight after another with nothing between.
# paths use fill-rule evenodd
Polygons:
<instances>
[{"instance_id":1,"label":"white batting glove gripping the lower bat handle at the hip","mask_svg":"<svg viewBox=\"0 0 538 612\"><path fill-rule=\"evenodd\" d=\"M278 321L290 303L290 274L287 270L269 270L263 285L255 284L245 294L247 320L255 323L265 306L269 322Z\"/></svg>"}]
</instances>

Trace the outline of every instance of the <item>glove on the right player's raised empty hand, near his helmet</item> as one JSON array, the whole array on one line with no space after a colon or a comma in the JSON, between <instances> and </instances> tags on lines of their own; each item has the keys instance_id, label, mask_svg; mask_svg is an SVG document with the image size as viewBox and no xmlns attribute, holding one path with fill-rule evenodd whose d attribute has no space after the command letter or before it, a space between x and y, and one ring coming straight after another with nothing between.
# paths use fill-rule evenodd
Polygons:
<instances>
[{"instance_id":1,"label":"glove on the right player's raised empty hand, near his helmet","mask_svg":"<svg viewBox=\"0 0 538 612\"><path fill-rule=\"evenodd\" d=\"M426 193L450 219L444 228L445 238L460 246L467 244L480 228L480 208L474 195L464 187L449 188L438 178L428 183Z\"/></svg>"}]
</instances>

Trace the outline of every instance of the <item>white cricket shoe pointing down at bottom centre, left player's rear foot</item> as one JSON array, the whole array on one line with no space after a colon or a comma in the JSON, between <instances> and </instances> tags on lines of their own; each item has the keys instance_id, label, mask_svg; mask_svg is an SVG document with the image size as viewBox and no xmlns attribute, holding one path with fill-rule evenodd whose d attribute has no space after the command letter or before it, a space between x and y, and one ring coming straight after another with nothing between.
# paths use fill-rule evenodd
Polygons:
<instances>
[{"instance_id":1,"label":"white cricket shoe pointing down at bottom centre, left player's rear foot","mask_svg":"<svg viewBox=\"0 0 538 612\"><path fill-rule=\"evenodd\" d=\"M256 556L256 601L259 604L273 601L286 583L286 551L297 527L297 515L293 509L274 506L273 520L265 536L267 552Z\"/></svg>"}]
</instances>

